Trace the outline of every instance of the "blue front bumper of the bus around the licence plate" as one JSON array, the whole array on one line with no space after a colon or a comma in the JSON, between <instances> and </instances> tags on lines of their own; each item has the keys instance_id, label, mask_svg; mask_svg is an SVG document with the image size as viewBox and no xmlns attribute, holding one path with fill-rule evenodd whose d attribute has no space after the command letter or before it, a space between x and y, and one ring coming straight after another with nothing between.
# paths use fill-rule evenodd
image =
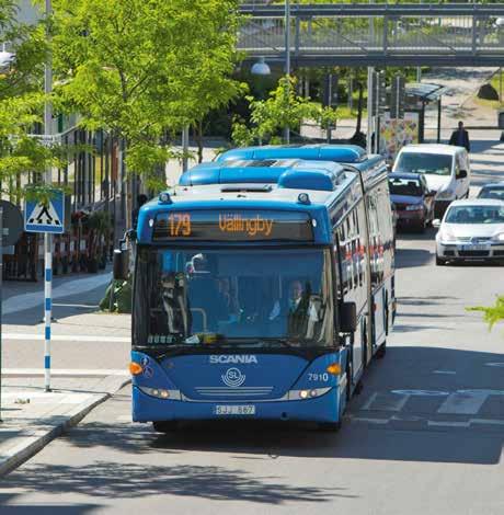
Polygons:
<instances>
[{"instance_id":1,"label":"blue front bumper of the bus around the licence plate","mask_svg":"<svg viewBox=\"0 0 504 515\"><path fill-rule=\"evenodd\" d=\"M144 393L138 387L133 387L133 421L196 421L196 420L280 420L337 422L340 410L336 389L331 388L327 393L314 399L289 401L243 401L243 402L198 402L158 399ZM345 396L341 396L344 402ZM220 407L220 408L218 408ZM242 407L231 409L231 407ZM248 408L243 408L248 407ZM253 408L252 408L253 407ZM228 411L234 413L227 414ZM245 411L248 414L239 414ZM253 413L251 413L253 412Z\"/></svg>"}]
</instances>

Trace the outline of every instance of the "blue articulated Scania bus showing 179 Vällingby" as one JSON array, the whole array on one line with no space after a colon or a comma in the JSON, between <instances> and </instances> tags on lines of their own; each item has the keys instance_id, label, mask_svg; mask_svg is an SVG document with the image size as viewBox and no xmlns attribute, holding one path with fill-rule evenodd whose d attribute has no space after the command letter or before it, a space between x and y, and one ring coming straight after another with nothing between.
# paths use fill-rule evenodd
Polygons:
<instances>
[{"instance_id":1,"label":"blue articulated Scania bus showing 179 V\u00e4llingby","mask_svg":"<svg viewBox=\"0 0 504 515\"><path fill-rule=\"evenodd\" d=\"M131 238L134 421L341 426L393 323L381 161L203 163L140 209ZM116 278L125 262L116 251Z\"/></svg>"}]
</instances>

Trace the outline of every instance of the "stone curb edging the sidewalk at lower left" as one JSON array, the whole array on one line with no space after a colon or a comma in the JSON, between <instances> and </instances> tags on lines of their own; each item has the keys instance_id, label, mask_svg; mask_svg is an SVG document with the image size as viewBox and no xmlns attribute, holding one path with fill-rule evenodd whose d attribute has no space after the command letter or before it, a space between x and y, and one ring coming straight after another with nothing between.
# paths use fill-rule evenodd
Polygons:
<instances>
[{"instance_id":1,"label":"stone curb edging the sidewalk at lower left","mask_svg":"<svg viewBox=\"0 0 504 515\"><path fill-rule=\"evenodd\" d=\"M9 453L0 458L0 477L16 469L20 465L39 453L47 444L79 424L94 408L108 400L130 381L129 378L125 379L115 391L102 393L98 399L92 399L78 405L67 415L62 415L65 420L50 430L38 430L35 431L33 435L24 437L21 444L10 449Z\"/></svg>"}]
</instances>

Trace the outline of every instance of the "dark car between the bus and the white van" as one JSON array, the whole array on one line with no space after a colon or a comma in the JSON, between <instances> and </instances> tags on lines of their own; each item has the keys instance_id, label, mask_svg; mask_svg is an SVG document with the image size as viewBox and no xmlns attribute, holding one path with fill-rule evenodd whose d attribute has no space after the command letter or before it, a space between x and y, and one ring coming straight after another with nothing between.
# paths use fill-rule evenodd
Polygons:
<instances>
[{"instance_id":1,"label":"dark car between the bus and the white van","mask_svg":"<svg viewBox=\"0 0 504 515\"><path fill-rule=\"evenodd\" d=\"M424 231L434 220L436 192L428 190L422 173L389 174L390 199L396 205L398 226Z\"/></svg>"}]
</instances>

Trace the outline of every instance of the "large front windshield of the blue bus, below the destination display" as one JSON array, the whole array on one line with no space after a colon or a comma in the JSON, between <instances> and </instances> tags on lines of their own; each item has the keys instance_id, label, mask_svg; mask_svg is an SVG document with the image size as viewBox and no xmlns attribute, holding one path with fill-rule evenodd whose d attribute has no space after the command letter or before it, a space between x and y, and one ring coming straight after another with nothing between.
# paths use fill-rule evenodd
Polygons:
<instances>
[{"instance_id":1,"label":"large front windshield of the blue bus, below the destination display","mask_svg":"<svg viewBox=\"0 0 504 515\"><path fill-rule=\"evenodd\" d=\"M134 345L334 345L331 290L328 249L140 247Z\"/></svg>"}]
</instances>

